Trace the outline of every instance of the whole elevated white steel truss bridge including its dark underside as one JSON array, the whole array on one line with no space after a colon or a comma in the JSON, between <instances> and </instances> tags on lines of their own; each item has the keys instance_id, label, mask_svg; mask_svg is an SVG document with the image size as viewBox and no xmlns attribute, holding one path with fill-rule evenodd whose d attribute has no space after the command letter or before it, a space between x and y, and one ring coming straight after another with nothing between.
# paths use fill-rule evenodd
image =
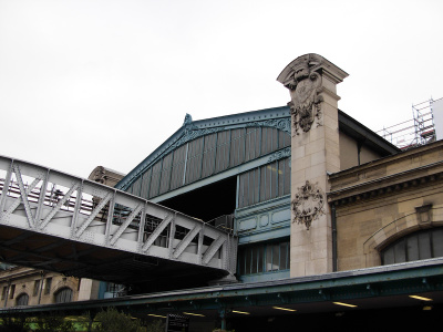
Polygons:
<instances>
[{"instance_id":1,"label":"whole elevated white steel truss bridge including its dark underside","mask_svg":"<svg viewBox=\"0 0 443 332\"><path fill-rule=\"evenodd\" d=\"M0 156L0 261L138 284L233 276L237 238L117 189Z\"/></svg>"}]
</instances>

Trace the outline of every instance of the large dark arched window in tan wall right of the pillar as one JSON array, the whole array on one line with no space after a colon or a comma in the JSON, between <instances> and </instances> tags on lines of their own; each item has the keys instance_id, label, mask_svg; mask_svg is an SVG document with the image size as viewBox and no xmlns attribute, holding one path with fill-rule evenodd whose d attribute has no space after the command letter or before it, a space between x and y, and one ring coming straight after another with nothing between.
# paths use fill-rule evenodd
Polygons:
<instances>
[{"instance_id":1,"label":"large dark arched window in tan wall right of the pillar","mask_svg":"<svg viewBox=\"0 0 443 332\"><path fill-rule=\"evenodd\" d=\"M443 257L443 228L410 234L381 251L382 264Z\"/></svg>"}]
</instances>

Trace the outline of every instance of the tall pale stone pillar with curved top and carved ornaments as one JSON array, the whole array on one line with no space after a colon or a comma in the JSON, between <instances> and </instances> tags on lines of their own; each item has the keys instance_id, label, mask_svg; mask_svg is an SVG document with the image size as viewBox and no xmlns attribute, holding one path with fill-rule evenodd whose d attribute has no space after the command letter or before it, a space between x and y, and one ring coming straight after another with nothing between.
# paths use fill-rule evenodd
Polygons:
<instances>
[{"instance_id":1,"label":"tall pale stone pillar with curved top and carved ornaments","mask_svg":"<svg viewBox=\"0 0 443 332\"><path fill-rule=\"evenodd\" d=\"M291 97L291 277L332 271L327 174L340 170L336 87L346 76L324 58L306 54L277 79Z\"/></svg>"}]
</instances>

